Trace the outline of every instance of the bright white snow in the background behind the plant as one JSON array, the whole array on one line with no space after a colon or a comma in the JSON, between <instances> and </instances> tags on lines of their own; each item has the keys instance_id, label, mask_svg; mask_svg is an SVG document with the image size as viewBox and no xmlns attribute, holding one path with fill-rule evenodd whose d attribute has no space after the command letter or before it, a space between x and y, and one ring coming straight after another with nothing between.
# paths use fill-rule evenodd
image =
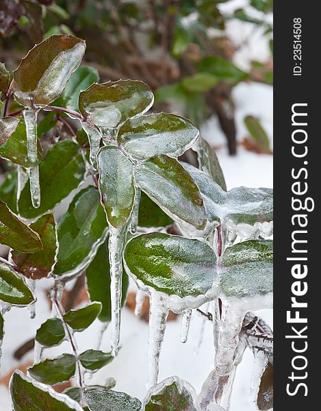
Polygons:
<instances>
[{"instance_id":1,"label":"bright white snow in the background behind the plant","mask_svg":"<svg viewBox=\"0 0 321 411\"><path fill-rule=\"evenodd\" d=\"M222 9L233 10L242 7L246 0L233 0L222 4ZM271 16L269 18L272 18ZM242 69L248 69L250 60L264 62L269 57L269 49L263 31L253 25L231 21L227 24L227 34L235 45L247 40L235 55L235 63ZM249 38L248 38L249 37ZM257 116L264 125L271 139L272 146L272 87L264 84L242 83L233 90L235 114L237 123L237 140L246 136L243 119L246 115ZM216 119L210 119L201 129L203 137L215 146L224 145L226 140L218 127ZM218 158L227 181L227 188L237 186L269 187L272 188L272 155L258 155L238 147L237 155L230 157L227 149L218 151ZM41 280L38 289L47 289L49 280ZM135 286L131 284L131 288ZM261 310L258 314L272 326L272 310ZM33 354L29 352L21 362L14 360L13 353L26 340L35 335L36 329L49 316L49 305L44 292L38 292L36 303L36 318L29 319L26 309L12 308L5 314L5 338L3 356L1 359L1 375L21 363L32 361ZM194 312L192 316L188 342L180 343L180 318L168 323L164 347L160 358L159 381L172 375L177 375L190 382L199 393L201 386L212 369L214 362L213 335L210 321L203 319ZM77 333L79 350L96 348L99 338L100 323L95 321L86 332ZM147 337L148 325L136 318L127 308L123 310L121 325L122 349L118 358L95 373L90 384L103 384L108 377L116 379L116 390L125 391L140 399L146 395L147 378ZM102 349L110 349L110 330L103 337ZM46 351L48 357L61 352L69 352L68 343ZM249 350L237 369L235 386L232 395L231 411L255 411L255 404L249 397L253 355ZM89 376L88 376L89 377ZM8 390L0 385L0 410L10 411L11 402Z\"/></svg>"}]
</instances>

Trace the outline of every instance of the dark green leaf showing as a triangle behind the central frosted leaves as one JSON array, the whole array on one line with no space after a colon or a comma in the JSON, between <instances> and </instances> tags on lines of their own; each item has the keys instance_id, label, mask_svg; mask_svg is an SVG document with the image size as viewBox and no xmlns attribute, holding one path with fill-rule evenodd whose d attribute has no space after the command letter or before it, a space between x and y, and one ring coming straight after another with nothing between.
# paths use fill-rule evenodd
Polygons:
<instances>
[{"instance_id":1,"label":"dark green leaf showing as a triangle behind the central frosted leaves","mask_svg":"<svg viewBox=\"0 0 321 411\"><path fill-rule=\"evenodd\" d=\"M138 211L139 227L167 227L173 223L172 219L164 213L144 192L140 196Z\"/></svg>"}]
</instances>

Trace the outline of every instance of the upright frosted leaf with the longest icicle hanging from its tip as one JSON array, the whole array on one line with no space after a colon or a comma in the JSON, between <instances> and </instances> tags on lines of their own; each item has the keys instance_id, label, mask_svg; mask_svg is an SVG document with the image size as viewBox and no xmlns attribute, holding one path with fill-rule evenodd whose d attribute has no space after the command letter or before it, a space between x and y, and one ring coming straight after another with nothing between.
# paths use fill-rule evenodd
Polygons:
<instances>
[{"instance_id":1,"label":"upright frosted leaf with the longest icicle hanging from its tip","mask_svg":"<svg viewBox=\"0 0 321 411\"><path fill-rule=\"evenodd\" d=\"M107 220L113 227L123 227L131 214L135 197L133 164L117 147L109 146L99 151L98 169Z\"/></svg>"}]
</instances>

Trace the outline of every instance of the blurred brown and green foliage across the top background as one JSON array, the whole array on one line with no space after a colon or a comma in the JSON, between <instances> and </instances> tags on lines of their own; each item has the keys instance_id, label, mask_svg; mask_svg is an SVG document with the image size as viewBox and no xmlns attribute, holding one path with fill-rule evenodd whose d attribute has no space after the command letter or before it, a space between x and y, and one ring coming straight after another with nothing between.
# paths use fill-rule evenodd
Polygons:
<instances>
[{"instance_id":1,"label":"blurred brown and green foliage across the top background","mask_svg":"<svg viewBox=\"0 0 321 411\"><path fill-rule=\"evenodd\" d=\"M264 18L273 5L272 0L249 0L260 12L255 16L261 16L253 18L248 8L223 14L220 5L226 1L1 0L2 99L9 84L7 69L14 69L27 50L51 34L73 34L86 40L83 64L97 69L100 82L140 79L155 93L155 110L179 112L198 127L209 116L218 116L233 155L233 87L240 82L273 82L272 27ZM225 31L233 19L263 27L270 42L268 62L254 61L247 72L233 64L237 47ZM245 119L250 138L257 140L258 152L260 147L268 152L264 130L255 121Z\"/></svg>"}]
</instances>

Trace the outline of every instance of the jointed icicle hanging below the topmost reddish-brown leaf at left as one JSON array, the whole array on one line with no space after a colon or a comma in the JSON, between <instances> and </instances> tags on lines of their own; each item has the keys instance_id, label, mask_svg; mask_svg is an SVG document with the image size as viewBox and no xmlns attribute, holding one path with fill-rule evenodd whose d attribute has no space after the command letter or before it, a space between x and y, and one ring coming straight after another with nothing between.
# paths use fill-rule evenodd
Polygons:
<instances>
[{"instance_id":1,"label":"jointed icicle hanging below the topmost reddish-brown leaf at left","mask_svg":"<svg viewBox=\"0 0 321 411\"><path fill-rule=\"evenodd\" d=\"M27 158L29 162L35 163L38 160L37 150L37 117L38 111L34 109L23 110L25 119L25 127L27 132ZM40 183L39 183L39 168L34 166L28 169L31 202L34 208L40 207Z\"/></svg>"}]
</instances>

